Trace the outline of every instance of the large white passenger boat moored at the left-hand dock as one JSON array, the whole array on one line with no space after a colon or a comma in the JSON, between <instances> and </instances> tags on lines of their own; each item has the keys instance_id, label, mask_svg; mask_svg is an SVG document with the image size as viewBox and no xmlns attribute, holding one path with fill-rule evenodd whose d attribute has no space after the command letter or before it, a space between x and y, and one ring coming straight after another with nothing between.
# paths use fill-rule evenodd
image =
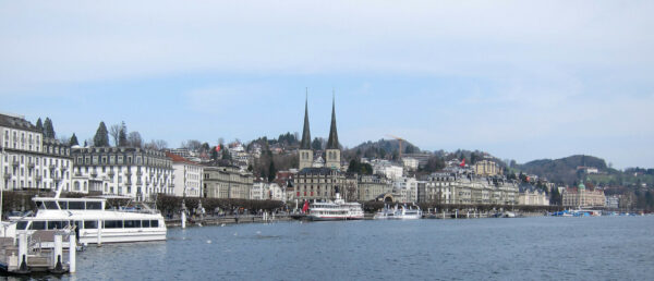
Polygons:
<instances>
[{"instance_id":1,"label":"large white passenger boat moored at the left-hand dock","mask_svg":"<svg viewBox=\"0 0 654 281\"><path fill-rule=\"evenodd\" d=\"M124 197L123 197L124 198ZM107 198L34 197L33 217L10 217L0 236L15 237L16 231L75 228L78 243L146 242L166 240L164 217L143 209L107 209Z\"/></svg>"}]
</instances>

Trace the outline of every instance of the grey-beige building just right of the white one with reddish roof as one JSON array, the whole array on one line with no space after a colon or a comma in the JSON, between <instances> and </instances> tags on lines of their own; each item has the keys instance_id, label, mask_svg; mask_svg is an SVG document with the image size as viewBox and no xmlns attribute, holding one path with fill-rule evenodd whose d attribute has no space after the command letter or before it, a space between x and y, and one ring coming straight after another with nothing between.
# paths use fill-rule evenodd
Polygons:
<instances>
[{"instance_id":1,"label":"grey-beige building just right of the white one with reddish roof","mask_svg":"<svg viewBox=\"0 0 654 281\"><path fill-rule=\"evenodd\" d=\"M204 197L250 199L254 176L238 167L205 167Z\"/></svg>"}]
</instances>

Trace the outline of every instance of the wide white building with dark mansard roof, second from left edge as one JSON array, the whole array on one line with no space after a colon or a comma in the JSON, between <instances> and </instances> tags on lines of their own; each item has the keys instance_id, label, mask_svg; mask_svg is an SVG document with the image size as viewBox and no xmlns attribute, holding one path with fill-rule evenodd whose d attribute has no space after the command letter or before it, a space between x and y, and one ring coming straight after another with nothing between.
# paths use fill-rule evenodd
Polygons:
<instances>
[{"instance_id":1,"label":"wide white building with dark mansard roof, second from left edge","mask_svg":"<svg viewBox=\"0 0 654 281\"><path fill-rule=\"evenodd\" d=\"M174 195L172 160L158 150L135 147L73 148L73 190L155 200ZM84 180L85 179L85 180ZM93 187L92 187L93 186Z\"/></svg>"}]
</instances>

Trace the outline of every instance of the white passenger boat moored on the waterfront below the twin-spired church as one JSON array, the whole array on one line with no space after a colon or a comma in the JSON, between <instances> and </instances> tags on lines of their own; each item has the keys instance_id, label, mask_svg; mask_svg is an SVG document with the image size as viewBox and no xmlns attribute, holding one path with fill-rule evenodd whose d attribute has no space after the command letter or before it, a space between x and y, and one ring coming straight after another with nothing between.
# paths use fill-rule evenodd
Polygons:
<instances>
[{"instance_id":1,"label":"white passenger boat moored on the waterfront below the twin-spired church","mask_svg":"<svg viewBox=\"0 0 654 281\"><path fill-rule=\"evenodd\" d=\"M315 201L310 205L311 220L362 220L363 208L359 203L346 203L336 194L334 201Z\"/></svg>"}]
</instances>

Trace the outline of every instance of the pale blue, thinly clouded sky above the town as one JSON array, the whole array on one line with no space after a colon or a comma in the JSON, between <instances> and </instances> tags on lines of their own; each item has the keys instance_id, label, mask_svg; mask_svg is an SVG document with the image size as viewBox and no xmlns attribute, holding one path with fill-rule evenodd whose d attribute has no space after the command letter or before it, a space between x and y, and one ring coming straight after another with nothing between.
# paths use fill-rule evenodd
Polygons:
<instances>
[{"instance_id":1,"label":"pale blue, thinly clouded sky above the town","mask_svg":"<svg viewBox=\"0 0 654 281\"><path fill-rule=\"evenodd\" d=\"M654 167L654 1L5 1L0 111L177 147L301 132Z\"/></svg>"}]
</instances>

